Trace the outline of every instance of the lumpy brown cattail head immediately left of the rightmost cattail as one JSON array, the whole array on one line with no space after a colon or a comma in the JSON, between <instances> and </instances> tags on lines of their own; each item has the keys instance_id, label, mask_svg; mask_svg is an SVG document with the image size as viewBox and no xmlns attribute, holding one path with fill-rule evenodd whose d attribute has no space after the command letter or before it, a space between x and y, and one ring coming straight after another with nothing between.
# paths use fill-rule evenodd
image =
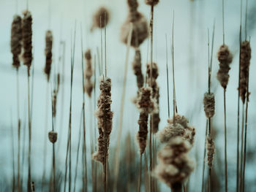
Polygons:
<instances>
[{"instance_id":1,"label":"lumpy brown cattail head immediately left of the rightmost cattail","mask_svg":"<svg viewBox=\"0 0 256 192\"><path fill-rule=\"evenodd\" d=\"M230 64L232 62L233 55L228 50L227 45L222 45L219 47L218 60L219 60L219 71L217 73L217 79L219 80L222 88L227 88L227 83L230 75Z\"/></svg>"}]
</instances>

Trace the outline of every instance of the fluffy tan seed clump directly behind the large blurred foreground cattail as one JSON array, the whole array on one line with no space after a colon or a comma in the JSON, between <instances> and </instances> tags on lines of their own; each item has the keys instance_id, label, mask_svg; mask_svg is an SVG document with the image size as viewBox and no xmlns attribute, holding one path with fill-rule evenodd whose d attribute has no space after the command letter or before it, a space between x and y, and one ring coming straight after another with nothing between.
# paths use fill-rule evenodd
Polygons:
<instances>
[{"instance_id":1,"label":"fluffy tan seed clump directly behind the large blurred foreground cattail","mask_svg":"<svg viewBox=\"0 0 256 192\"><path fill-rule=\"evenodd\" d=\"M176 114L175 124L173 124L173 118L167 119L167 126L158 132L157 137L160 142L167 143L176 137L182 137L187 140L190 145L193 145L195 139L195 128L189 126L189 121L182 115Z\"/></svg>"}]
</instances>

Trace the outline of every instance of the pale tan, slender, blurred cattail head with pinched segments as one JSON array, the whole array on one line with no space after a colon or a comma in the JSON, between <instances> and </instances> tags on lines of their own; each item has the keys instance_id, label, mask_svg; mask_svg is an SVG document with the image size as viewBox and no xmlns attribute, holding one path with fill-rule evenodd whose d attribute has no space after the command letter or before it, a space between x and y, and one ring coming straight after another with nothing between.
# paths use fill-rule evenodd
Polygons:
<instances>
[{"instance_id":1,"label":"pale tan, slender, blurred cattail head with pinched segments","mask_svg":"<svg viewBox=\"0 0 256 192\"><path fill-rule=\"evenodd\" d=\"M91 91L94 88L94 84L91 82L91 76L94 74L91 66L91 50L86 50L86 53L84 54L84 57L86 58L86 69L84 72L84 75L86 77L86 83L83 91L86 91L89 97L91 97Z\"/></svg>"}]
</instances>

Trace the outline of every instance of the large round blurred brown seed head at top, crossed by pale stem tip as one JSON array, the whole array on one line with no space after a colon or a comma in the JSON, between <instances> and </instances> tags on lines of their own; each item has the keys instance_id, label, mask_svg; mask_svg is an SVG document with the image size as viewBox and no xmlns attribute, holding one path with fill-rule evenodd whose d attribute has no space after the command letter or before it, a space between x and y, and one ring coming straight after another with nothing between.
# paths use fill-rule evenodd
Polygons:
<instances>
[{"instance_id":1,"label":"large round blurred brown seed head at top, crossed by pale stem tip","mask_svg":"<svg viewBox=\"0 0 256 192\"><path fill-rule=\"evenodd\" d=\"M131 46L139 47L143 41L148 37L148 22L144 15L136 12L135 15L129 14L127 20L121 26L121 42L127 44L130 25L132 23L132 39Z\"/></svg>"}]
</instances>

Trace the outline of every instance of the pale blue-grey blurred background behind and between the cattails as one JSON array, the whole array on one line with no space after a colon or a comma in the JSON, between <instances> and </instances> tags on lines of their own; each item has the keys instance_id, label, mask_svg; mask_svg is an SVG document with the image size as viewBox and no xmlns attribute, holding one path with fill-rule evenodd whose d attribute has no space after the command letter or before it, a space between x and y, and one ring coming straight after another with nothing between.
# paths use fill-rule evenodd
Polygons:
<instances>
[{"instance_id":1,"label":"pale blue-grey blurred background behind and between the cattails","mask_svg":"<svg viewBox=\"0 0 256 192\"><path fill-rule=\"evenodd\" d=\"M150 7L143 0L138 0L138 10L142 12L149 21ZM82 72L81 72L81 36L83 36L83 52L91 49L91 53L98 62L97 49L101 47L101 31L95 29L90 32L92 25L92 15L101 6L110 10L110 23L106 28L106 63L108 77L112 79L112 105L113 110L113 131L110 136L110 169L113 169L111 159L116 149L118 137L118 122L121 105L122 83L124 79L124 64L127 51L126 45L120 41L121 24L127 17L126 0L29 0L29 10L33 18L33 64L31 72L34 71L32 91L32 148L31 148L31 174L34 177L36 187L37 180L40 180L43 172L43 150L45 142L45 131L51 130L51 107L50 95L46 96L47 80L43 72L45 66L45 31L53 31L53 66L52 77L57 72L61 72L61 87L59 101L57 102L56 131L59 134L56 143L56 164L59 174L63 177L65 169L65 155L67 147L67 130L69 123L69 91L70 91L70 50L71 39L75 33L75 68L72 92L72 164L75 169L76 150L80 139L80 117L83 103ZM17 154L18 150L18 128L17 128L17 96L16 96L16 72L12 68L12 53L10 52L10 31L13 15L22 14L26 9L26 1L23 0L1 0L0 1L0 191L10 191L12 187L12 154ZM237 137L237 95L238 95L238 60L239 60L239 26L240 26L240 1L225 0L225 43L233 53L233 63L230 69L230 80L227 86L227 174L229 191L236 188L236 137ZM217 51L222 45L222 1L221 0L160 0L154 9L154 52L153 60L159 66L159 77L157 82L160 88L159 113L161 121L159 129L167 125L167 77L166 62L171 69L171 25L174 19L174 54L175 54L175 80L176 99L178 113L185 115L189 123L196 128L195 145L190 156L195 159L195 170L189 178L189 191L200 191L202 183L203 150L206 134L206 116L203 111L203 94L208 89L208 30L211 34L215 20L215 39L213 50L211 90L215 94L216 115L213 118L214 139L216 143L216 156L214 158L214 188L212 191L224 191L224 113L223 113L223 89L217 81L216 74L219 69L217 61ZM246 191L256 191L256 153L255 153L255 104L256 85L254 72L255 66L255 34L256 23L256 1L248 1L248 23L247 34L250 37L252 46L252 59L250 66L249 91L251 92L248 111L248 132L247 132L247 158L246 158ZM242 39L244 39L245 1L243 3L242 18ZM103 38L104 38L103 31ZM167 37L167 42L165 37ZM63 42L65 46L63 46ZM166 59L167 43L167 59ZM148 39L140 46L142 55L143 74L146 72L146 63L150 61L150 44ZM63 55L64 51L64 55ZM105 49L104 49L105 51ZM104 52L105 53L105 52ZM135 75L132 72L132 60L135 51L129 50L129 66L127 75L127 92L124 102L124 122L121 135L121 159L126 158L124 150L127 141L132 146L132 160L136 162L129 169L129 175L136 175L138 172L139 152L135 142L135 134L138 131L139 112L132 98L136 96L137 86ZM105 58L103 58L105 62ZM64 64L64 65L63 65ZM97 65L96 65L97 66ZM91 99L86 96L86 139L87 139L87 161L88 172L91 170L90 137L91 131L95 130L97 121L94 117L95 101L99 95L99 69L95 69L97 77L95 96ZM170 70L169 70L170 72ZM19 69L20 85L20 118L21 118L21 148L28 145L27 141L27 73L26 66L21 64ZM171 80L171 73L169 74ZM53 80L53 78L52 78ZM53 82L50 84L52 85ZM170 91L172 91L172 85ZM52 86L50 86L49 91ZM172 94L170 94L171 96ZM170 98L172 99L172 97ZM47 101L48 100L48 101ZM172 107L172 106L170 106ZM240 107L241 109L241 107ZM46 110L48 117L45 118ZM172 113L171 113L172 115ZM45 120L47 119L47 120ZM12 133L13 130L13 133ZM97 131L97 130L96 130ZM47 133L46 132L46 133ZM13 142L12 142L13 138ZM129 140L127 140L127 138ZM13 147L12 147L13 146ZM161 146L158 146L161 147ZM13 149L12 149L13 148ZM46 169L50 177L51 169L51 144L47 142ZM22 152L27 153L27 147ZM13 151L14 150L14 151ZM124 154L123 154L124 153ZM81 153L80 153L81 155ZM26 155L25 155L26 157ZM16 155L14 161L17 161ZM27 164L23 163L24 180L27 175ZM16 166L16 164L15 164ZM78 178L82 164L78 164ZM127 185L126 166L120 166L120 177L118 185L124 191L135 191L135 188L125 187ZM124 175L122 175L124 174ZM133 178L134 179L134 178ZM81 179L77 181L77 191L80 190ZM91 177L89 176L89 191L91 191ZM132 181L130 181L132 183ZM25 182L24 182L25 183ZM100 181L99 181L100 183ZM126 183L126 184L125 184ZM72 185L75 185L72 183ZM101 185L101 184L99 184ZM136 185L136 180L135 180ZM2 187L4 186L4 187ZM26 184L24 184L24 187ZM161 191L170 191L163 183L159 182ZM46 190L46 189L45 189ZM40 191L40 188L38 188Z\"/></svg>"}]
</instances>

